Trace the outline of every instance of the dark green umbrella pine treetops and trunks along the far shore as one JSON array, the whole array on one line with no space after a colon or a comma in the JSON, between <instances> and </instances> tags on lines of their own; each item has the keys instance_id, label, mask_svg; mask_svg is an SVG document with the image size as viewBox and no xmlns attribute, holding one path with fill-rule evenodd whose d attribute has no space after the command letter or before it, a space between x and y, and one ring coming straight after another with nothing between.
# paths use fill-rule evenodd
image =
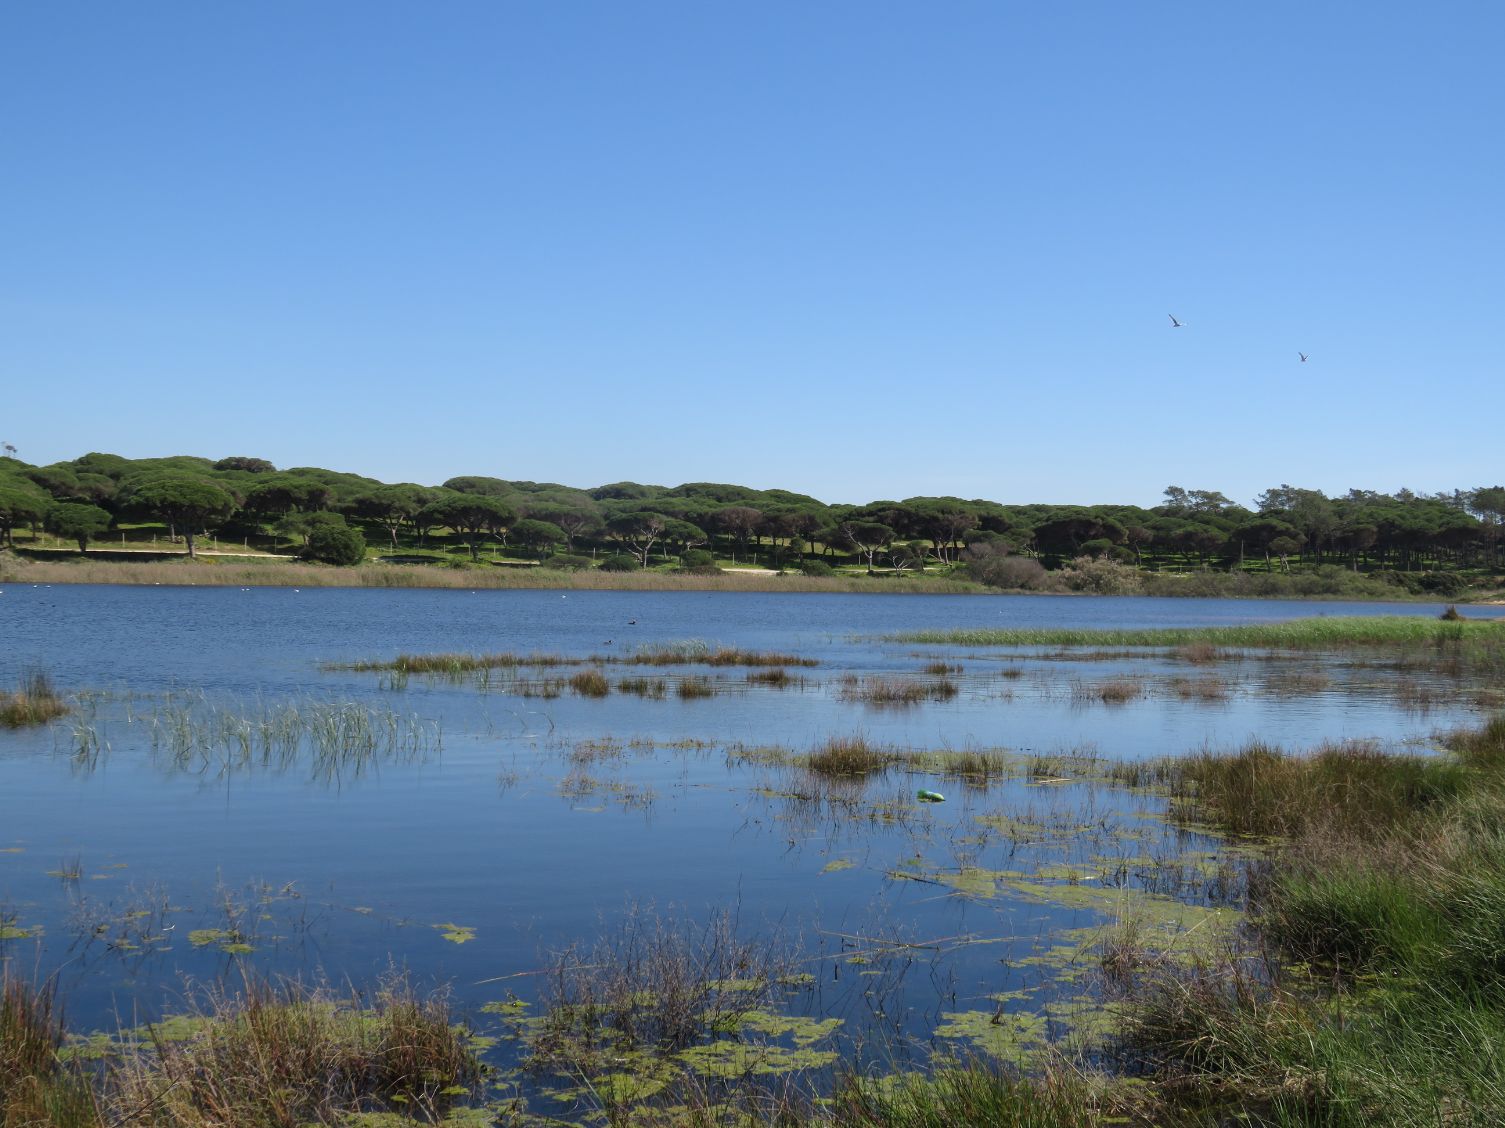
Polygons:
<instances>
[{"instance_id":1,"label":"dark green umbrella pine treetops and trunks along the far shore","mask_svg":"<svg viewBox=\"0 0 1505 1128\"><path fill-rule=\"evenodd\" d=\"M185 538L190 555L196 535L226 529L301 537L307 555L330 562L363 559L367 534L402 555L405 544L426 544L447 529L473 558L489 541L576 564L582 550L605 549L640 567L665 556L709 564L719 552L816 570L831 559L861 562L868 572L965 562L984 582L1004 578L1008 558L1060 567L1087 556L1151 569L1258 559L1270 570L1276 562L1288 569L1296 556L1303 564L1409 573L1496 569L1505 486L1329 498L1282 484L1261 493L1254 508L1216 490L1180 486L1169 486L1151 508L951 496L847 505L728 483L576 489L461 475L420 486L316 466L278 469L248 456L90 453L47 466L0 457L0 541L14 544L17 528L45 528L87 550L128 522L160 522Z\"/></svg>"}]
</instances>

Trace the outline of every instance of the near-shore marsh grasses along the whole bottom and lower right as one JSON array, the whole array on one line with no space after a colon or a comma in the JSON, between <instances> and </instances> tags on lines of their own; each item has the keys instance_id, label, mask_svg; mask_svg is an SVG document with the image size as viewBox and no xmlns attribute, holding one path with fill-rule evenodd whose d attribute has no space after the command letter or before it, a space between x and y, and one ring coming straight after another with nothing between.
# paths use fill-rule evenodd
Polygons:
<instances>
[{"instance_id":1,"label":"near-shore marsh grasses along the whole bottom and lower right","mask_svg":"<svg viewBox=\"0 0 1505 1128\"><path fill-rule=\"evenodd\" d=\"M861 779L895 755L831 740L804 766ZM1105 999L1085 1041L1017 1060L939 1053L930 1068L810 1048L823 1045L822 1024L762 1009L808 979L786 938L739 938L724 913L704 925L632 914L554 958L540 1014L518 1024L525 1068L576 1078L579 1122L662 1128L1497 1123L1505 716L1440 734L1424 754L1254 740L1084 770L1162 797L1172 826L1216 832L1251 859L1233 905L1246 923L1216 942L1159 935L1130 913L1081 946ZM54 984L12 967L0 1123L560 1122L512 1098L486 1102L486 1038L442 991L397 981L361 999L245 981L208 990L187 1015L83 1036L65 1029ZM805 1032L804 1074L709 1084L685 1068L743 1045L736 1030L786 1027Z\"/></svg>"}]
</instances>

